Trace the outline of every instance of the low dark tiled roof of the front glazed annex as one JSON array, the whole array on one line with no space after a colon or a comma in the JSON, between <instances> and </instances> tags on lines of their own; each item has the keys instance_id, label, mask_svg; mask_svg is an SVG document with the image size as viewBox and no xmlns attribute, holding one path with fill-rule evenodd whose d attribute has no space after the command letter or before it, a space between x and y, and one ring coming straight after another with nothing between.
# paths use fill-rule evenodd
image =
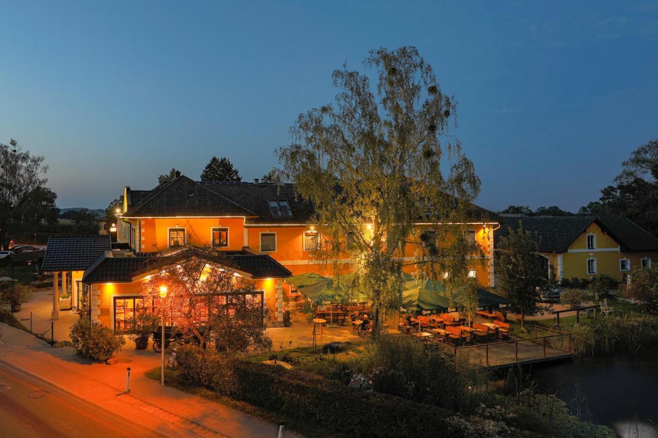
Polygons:
<instances>
[{"instance_id":1,"label":"low dark tiled roof of the front glazed annex","mask_svg":"<svg viewBox=\"0 0 658 438\"><path fill-rule=\"evenodd\" d=\"M157 270L179 262L187 256L196 256L209 262L218 262L238 271L250 274L252 278L284 278L291 272L268 255L255 255L243 251L222 253L220 251L195 248L172 249L155 256L106 257L96 266L85 272L85 283L130 282L134 276Z\"/></svg>"}]
</instances>

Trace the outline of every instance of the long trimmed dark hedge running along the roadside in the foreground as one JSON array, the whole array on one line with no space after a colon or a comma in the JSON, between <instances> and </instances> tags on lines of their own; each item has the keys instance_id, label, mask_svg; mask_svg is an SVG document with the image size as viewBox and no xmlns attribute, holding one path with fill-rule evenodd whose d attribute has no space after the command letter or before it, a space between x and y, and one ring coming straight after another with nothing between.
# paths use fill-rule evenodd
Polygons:
<instances>
[{"instance_id":1,"label":"long trimmed dark hedge running along the roadside in the foreground","mask_svg":"<svg viewBox=\"0 0 658 438\"><path fill-rule=\"evenodd\" d=\"M213 357L214 356L214 357ZM327 436L402 437L447 433L450 410L392 395L357 390L300 370L243 360L216 359L196 347L176 356L181 376L191 383L279 414L289 426L321 429ZM220 376L227 381L220 382Z\"/></svg>"}]
</instances>

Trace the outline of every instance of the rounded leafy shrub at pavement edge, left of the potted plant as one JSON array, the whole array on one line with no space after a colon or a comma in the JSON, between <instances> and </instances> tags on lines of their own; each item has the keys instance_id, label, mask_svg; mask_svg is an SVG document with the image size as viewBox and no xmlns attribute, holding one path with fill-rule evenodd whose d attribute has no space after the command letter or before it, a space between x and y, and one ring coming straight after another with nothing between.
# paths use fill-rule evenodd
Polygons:
<instances>
[{"instance_id":1,"label":"rounded leafy shrub at pavement edge, left of the potted plant","mask_svg":"<svg viewBox=\"0 0 658 438\"><path fill-rule=\"evenodd\" d=\"M96 360L112 356L126 343L123 336L115 335L111 329L101 324L91 324L86 318L81 318L73 324L70 338L78 353Z\"/></svg>"}]
</instances>

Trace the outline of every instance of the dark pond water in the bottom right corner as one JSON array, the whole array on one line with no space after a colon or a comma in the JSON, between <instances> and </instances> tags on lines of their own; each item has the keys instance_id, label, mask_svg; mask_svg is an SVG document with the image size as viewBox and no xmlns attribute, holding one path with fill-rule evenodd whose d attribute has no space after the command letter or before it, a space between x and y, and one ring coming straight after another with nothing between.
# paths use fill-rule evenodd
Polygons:
<instances>
[{"instance_id":1,"label":"dark pond water in the bottom right corner","mask_svg":"<svg viewBox=\"0 0 658 438\"><path fill-rule=\"evenodd\" d=\"M557 394L582 420L622 437L658 436L658 351L533 366L538 391Z\"/></svg>"}]
</instances>

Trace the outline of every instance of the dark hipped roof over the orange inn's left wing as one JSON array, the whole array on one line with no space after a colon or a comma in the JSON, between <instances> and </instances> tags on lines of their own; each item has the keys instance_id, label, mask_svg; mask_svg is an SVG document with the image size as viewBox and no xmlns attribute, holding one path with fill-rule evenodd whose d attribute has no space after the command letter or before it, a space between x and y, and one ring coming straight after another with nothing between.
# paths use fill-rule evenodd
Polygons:
<instances>
[{"instance_id":1,"label":"dark hipped roof over the orange inn's left wing","mask_svg":"<svg viewBox=\"0 0 658 438\"><path fill-rule=\"evenodd\" d=\"M255 214L190 178L179 176L149 191L141 202L131 205L122 216L255 216Z\"/></svg>"}]
</instances>

